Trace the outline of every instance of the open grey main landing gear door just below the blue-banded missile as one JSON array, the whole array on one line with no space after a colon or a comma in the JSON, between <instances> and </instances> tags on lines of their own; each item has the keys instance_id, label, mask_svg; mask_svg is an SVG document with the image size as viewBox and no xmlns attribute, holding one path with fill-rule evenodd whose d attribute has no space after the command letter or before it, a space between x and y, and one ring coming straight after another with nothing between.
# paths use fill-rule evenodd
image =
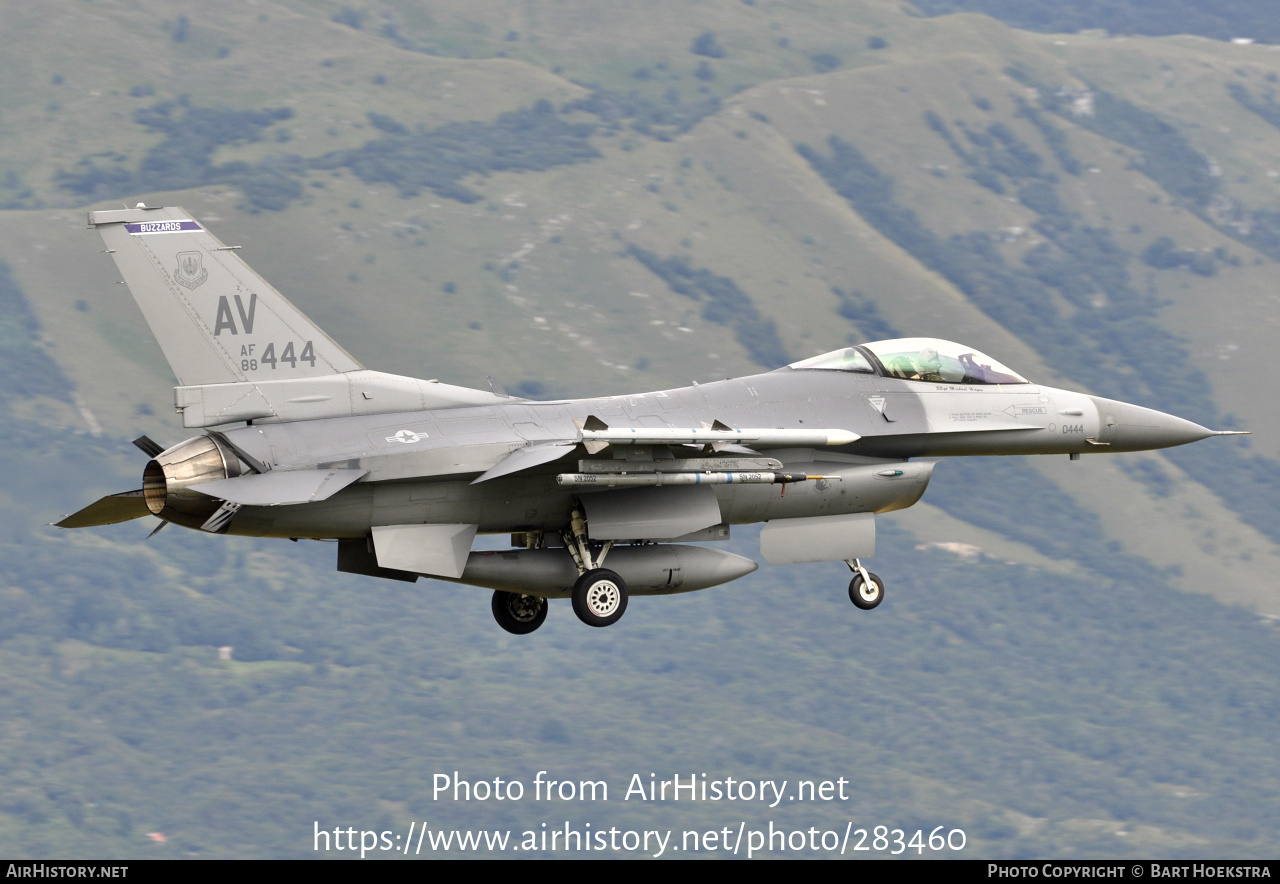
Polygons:
<instances>
[{"instance_id":1,"label":"open grey main landing gear door just below the blue-banded missile","mask_svg":"<svg viewBox=\"0 0 1280 884\"><path fill-rule=\"evenodd\" d=\"M582 507L591 540L671 540L723 521L709 485L584 494Z\"/></svg>"}]
</instances>

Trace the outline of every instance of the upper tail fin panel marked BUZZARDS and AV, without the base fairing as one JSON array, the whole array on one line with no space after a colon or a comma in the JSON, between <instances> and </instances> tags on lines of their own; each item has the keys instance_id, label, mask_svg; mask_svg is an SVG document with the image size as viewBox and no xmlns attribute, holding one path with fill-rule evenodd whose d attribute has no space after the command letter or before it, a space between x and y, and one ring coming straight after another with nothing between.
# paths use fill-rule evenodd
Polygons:
<instances>
[{"instance_id":1,"label":"upper tail fin panel marked BUZZARDS and AV, without the base fairing","mask_svg":"<svg viewBox=\"0 0 1280 884\"><path fill-rule=\"evenodd\" d=\"M264 383L360 370L329 335L179 207L88 214L178 383Z\"/></svg>"}]
</instances>

